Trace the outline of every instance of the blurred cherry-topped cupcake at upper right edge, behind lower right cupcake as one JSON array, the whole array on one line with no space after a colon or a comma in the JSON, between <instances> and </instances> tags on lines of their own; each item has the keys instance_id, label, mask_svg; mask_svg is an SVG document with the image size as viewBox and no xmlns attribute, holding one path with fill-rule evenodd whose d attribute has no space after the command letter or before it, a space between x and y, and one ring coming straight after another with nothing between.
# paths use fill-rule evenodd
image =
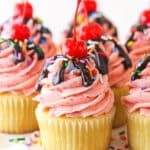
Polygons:
<instances>
[{"instance_id":1,"label":"blurred cherry-topped cupcake at upper right edge, behind lower right cupcake","mask_svg":"<svg viewBox=\"0 0 150 150\"><path fill-rule=\"evenodd\" d=\"M131 27L131 31L125 43L132 60L133 69L137 60L150 52L150 10L144 10L139 17L138 23Z\"/></svg>"}]
</instances>

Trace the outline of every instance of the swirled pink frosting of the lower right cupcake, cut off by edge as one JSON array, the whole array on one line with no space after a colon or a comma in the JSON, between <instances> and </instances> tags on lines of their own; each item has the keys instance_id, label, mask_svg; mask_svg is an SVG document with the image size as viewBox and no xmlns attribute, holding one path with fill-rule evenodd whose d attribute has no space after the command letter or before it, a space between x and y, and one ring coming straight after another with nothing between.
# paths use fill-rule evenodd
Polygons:
<instances>
[{"instance_id":1,"label":"swirled pink frosting of the lower right cupcake, cut off by edge","mask_svg":"<svg viewBox=\"0 0 150 150\"><path fill-rule=\"evenodd\" d=\"M130 93L122 97L122 102L129 112L138 110L141 115L150 116L150 63L140 75L140 79L130 82Z\"/></svg>"}]
</instances>

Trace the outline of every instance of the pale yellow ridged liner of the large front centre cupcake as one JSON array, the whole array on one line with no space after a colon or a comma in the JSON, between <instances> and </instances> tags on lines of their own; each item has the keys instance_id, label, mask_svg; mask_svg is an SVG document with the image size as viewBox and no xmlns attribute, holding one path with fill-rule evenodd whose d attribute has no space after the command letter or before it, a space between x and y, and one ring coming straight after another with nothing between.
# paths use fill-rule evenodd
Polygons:
<instances>
[{"instance_id":1,"label":"pale yellow ridged liner of the large front centre cupcake","mask_svg":"<svg viewBox=\"0 0 150 150\"><path fill-rule=\"evenodd\" d=\"M44 150L108 150L115 108L99 117L51 117L36 110Z\"/></svg>"}]
</instances>

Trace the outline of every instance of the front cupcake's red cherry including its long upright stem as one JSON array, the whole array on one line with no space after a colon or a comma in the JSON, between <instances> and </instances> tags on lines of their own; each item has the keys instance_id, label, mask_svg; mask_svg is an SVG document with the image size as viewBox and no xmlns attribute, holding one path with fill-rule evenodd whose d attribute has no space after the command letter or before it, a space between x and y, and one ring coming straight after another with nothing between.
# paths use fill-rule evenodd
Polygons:
<instances>
[{"instance_id":1,"label":"front cupcake's red cherry including its long upright stem","mask_svg":"<svg viewBox=\"0 0 150 150\"><path fill-rule=\"evenodd\" d=\"M80 3L81 3L81 0L78 0L75 17L74 17L74 37L66 39L62 47L63 54L69 55L75 58L82 58L82 57L87 56L87 47L86 47L85 42L82 40L76 39L76 18L77 18L77 12L78 12Z\"/></svg>"}]
</instances>

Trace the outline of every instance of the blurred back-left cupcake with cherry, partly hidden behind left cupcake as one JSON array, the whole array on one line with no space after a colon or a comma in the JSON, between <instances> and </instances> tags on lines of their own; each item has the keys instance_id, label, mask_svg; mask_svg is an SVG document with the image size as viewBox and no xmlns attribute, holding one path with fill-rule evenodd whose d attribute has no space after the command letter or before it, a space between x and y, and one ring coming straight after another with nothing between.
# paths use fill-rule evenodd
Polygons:
<instances>
[{"instance_id":1,"label":"blurred back-left cupcake with cherry, partly hidden behind left cupcake","mask_svg":"<svg viewBox=\"0 0 150 150\"><path fill-rule=\"evenodd\" d=\"M52 32L43 24L40 18L34 17L33 13L31 3L16 3L12 17L1 25L1 37L7 37L8 29L13 24L25 24L30 29L30 40L40 46L45 53L45 57L54 56L57 53L57 47L53 41Z\"/></svg>"}]
</instances>

